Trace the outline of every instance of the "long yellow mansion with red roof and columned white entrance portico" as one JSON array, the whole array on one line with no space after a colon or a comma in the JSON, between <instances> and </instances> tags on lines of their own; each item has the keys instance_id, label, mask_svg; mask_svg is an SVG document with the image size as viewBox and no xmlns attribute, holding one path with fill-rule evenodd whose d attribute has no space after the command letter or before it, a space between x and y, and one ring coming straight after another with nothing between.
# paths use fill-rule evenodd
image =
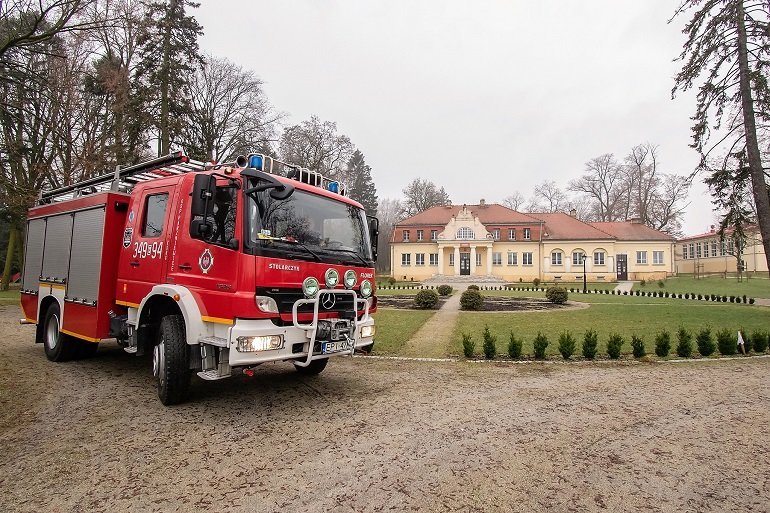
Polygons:
<instances>
[{"instance_id":1,"label":"long yellow mansion with red roof and columned white entrance portico","mask_svg":"<svg viewBox=\"0 0 770 513\"><path fill-rule=\"evenodd\" d=\"M424 281L616 281L673 272L673 239L636 222L585 223L565 213L524 214L497 204L433 207L398 223L392 276ZM585 257L585 261L584 261Z\"/></svg>"}]
</instances>

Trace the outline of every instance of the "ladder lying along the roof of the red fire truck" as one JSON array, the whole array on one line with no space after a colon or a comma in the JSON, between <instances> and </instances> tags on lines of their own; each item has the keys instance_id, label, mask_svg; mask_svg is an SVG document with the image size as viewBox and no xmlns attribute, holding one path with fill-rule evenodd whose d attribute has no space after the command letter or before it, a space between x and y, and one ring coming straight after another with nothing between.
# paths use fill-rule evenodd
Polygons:
<instances>
[{"instance_id":1,"label":"ladder lying along the roof of the red fire truck","mask_svg":"<svg viewBox=\"0 0 770 513\"><path fill-rule=\"evenodd\" d=\"M210 164L190 160L184 153L177 151L154 159L121 168L114 173L88 178L72 185L65 185L49 191L43 191L38 198L38 205L79 198L97 192L129 192L140 182L181 175L183 173L206 171Z\"/></svg>"}]
</instances>

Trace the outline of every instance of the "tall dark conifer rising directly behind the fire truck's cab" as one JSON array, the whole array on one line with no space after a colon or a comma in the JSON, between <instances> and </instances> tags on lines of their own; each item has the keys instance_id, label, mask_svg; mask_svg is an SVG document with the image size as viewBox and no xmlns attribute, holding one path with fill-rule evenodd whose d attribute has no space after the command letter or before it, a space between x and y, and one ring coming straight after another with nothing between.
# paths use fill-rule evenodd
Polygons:
<instances>
[{"instance_id":1,"label":"tall dark conifer rising directly behind the fire truck's cab","mask_svg":"<svg viewBox=\"0 0 770 513\"><path fill-rule=\"evenodd\" d=\"M148 113L158 129L158 154L171 150L190 110L190 76L203 65L198 36L203 28L187 7L200 4L168 0L145 4L144 30L139 36L140 62L136 80Z\"/></svg>"}]
</instances>

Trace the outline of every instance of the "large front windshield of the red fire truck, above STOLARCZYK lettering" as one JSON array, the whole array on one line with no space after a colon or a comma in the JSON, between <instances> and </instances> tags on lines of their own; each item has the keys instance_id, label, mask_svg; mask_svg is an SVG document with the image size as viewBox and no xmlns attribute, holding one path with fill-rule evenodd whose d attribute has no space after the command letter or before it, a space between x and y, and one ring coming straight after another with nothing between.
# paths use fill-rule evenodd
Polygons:
<instances>
[{"instance_id":1,"label":"large front windshield of the red fire truck, above STOLARCZYK lettering","mask_svg":"<svg viewBox=\"0 0 770 513\"><path fill-rule=\"evenodd\" d=\"M278 200L247 196L250 246L257 254L370 266L366 214L360 208L300 189Z\"/></svg>"}]
</instances>

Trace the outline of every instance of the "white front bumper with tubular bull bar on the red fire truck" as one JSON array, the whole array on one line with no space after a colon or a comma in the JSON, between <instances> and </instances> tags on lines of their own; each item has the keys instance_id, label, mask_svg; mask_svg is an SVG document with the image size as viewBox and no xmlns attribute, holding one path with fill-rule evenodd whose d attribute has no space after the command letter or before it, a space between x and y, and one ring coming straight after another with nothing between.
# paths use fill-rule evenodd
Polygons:
<instances>
[{"instance_id":1,"label":"white front bumper with tubular bull bar on the red fire truck","mask_svg":"<svg viewBox=\"0 0 770 513\"><path fill-rule=\"evenodd\" d=\"M350 333L348 337L352 342L349 350L338 351L334 353L321 353L321 342L317 339L319 327L319 298L324 293L334 294L352 294L353 304L356 312L350 312L353 318L350 320ZM310 304L313 306L312 322L300 323L298 320L297 309L301 305ZM268 319L236 319L235 325L230 328L229 334L229 364L230 367L245 367L257 365L265 362L274 362L282 360L294 360L299 366L307 366L313 360L320 360L333 356L352 355L356 348L367 346L374 341L374 337L362 337L361 330L366 326L374 326L374 319L369 315L370 302L359 298L352 290L342 291L339 289L321 290L314 299L301 299L294 303L292 310L292 326L276 326ZM357 315L359 309L364 313ZM354 315L355 314L355 315ZM254 337L281 335L284 340L281 349L270 349L266 351L241 352L237 349L238 337Z\"/></svg>"}]
</instances>

